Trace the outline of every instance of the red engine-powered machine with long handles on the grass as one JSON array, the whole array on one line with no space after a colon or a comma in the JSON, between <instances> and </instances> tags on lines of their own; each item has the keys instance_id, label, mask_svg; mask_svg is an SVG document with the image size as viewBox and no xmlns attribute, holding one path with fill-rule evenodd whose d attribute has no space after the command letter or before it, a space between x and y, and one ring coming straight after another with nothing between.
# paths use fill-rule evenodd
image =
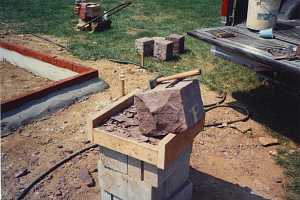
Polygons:
<instances>
[{"instance_id":1,"label":"red engine-powered machine with long handles on the grass","mask_svg":"<svg viewBox=\"0 0 300 200\"><path fill-rule=\"evenodd\" d=\"M74 13L80 17L77 28L79 30L104 31L111 27L110 16L131 5L132 2L121 3L108 11L102 10L98 3L87 3L85 0L77 0Z\"/></svg>"}]
</instances>

